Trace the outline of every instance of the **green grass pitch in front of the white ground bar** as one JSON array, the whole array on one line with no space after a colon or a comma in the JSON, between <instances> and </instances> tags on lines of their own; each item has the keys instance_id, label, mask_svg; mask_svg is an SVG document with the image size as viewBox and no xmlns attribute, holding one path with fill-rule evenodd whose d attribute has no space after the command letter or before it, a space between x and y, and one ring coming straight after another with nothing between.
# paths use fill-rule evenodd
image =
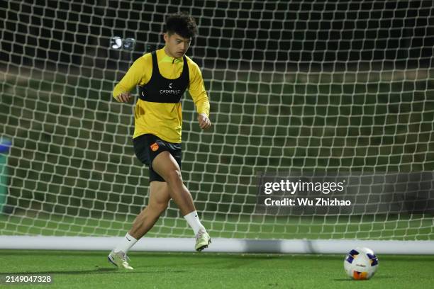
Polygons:
<instances>
[{"instance_id":1,"label":"green grass pitch in front of the white ground bar","mask_svg":"<svg viewBox=\"0 0 434 289\"><path fill-rule=\"evenodd\" d=\"M106 251L0 250L1 276L52 276L50 285L10 288L432 288L434 256L379 255L371 280L355 281L340 255L145 253L134 271L106 261ZM5 266L7 265L7 266ZM1 285L0 285L1 286Z\"/></svg>"}]
</instances>

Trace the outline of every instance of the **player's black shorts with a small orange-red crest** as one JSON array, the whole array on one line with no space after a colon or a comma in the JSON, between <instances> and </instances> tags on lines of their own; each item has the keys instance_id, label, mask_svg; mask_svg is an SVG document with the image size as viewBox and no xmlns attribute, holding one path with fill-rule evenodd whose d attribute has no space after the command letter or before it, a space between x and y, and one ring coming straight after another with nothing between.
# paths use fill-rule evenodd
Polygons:
<instances>
[{"instance_id":1,"label":"player's black shorts with a small orange-red crest","mask_svg":"<svg viewBox=\"0 0 434 289\"><path fill-rule=\"evenodd\" d=\"M134 152L137 158L143 164L149 166L149 182L165 181L156 171L152 169L152 162L160 152L169 152L177 161L181 168L182 149L181 144L166 142L156 135L145 134L139 135L133 139Z\"/></svg>"}]
</instances>

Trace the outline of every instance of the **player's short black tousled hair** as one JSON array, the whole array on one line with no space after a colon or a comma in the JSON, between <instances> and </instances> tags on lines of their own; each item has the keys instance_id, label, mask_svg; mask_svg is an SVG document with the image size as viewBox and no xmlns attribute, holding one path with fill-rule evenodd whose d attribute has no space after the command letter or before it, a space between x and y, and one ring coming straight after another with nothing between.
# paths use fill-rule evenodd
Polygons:
<instances>
[{"instance_id":1,"label":"player's short black tousled hair","mask_svg":"<svg viewBox=\"0 0 434 289\"><path fill-rule=\"evenodd\" d=\"M183 38L192 38L197 33L196 21L186 12L171 14L166 19L166 32L177 33Z\"/></svg>"}]
</instances>

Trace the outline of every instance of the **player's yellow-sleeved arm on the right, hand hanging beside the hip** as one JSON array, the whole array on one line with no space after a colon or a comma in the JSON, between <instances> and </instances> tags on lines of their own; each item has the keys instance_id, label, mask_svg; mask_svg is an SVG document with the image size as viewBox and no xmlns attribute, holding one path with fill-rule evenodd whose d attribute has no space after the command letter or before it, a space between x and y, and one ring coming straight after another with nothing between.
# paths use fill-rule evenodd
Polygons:
<instances>
[{"instance_id":1,"label":"player's yellow-sleeved arm on the right, hand hanging beside the hip","mask_svg":"<svg viewBox=\"0 0 434 289\"><path fill-rule=\"evenodd\" d=\"M201 70L197 64L191 65L191 79L189 84L189 93L193 98L198 113L197 120L202 130L211 127L209 120L209 100L206 94L204 79L202 78Z\"/></svg>"}]
</instances>

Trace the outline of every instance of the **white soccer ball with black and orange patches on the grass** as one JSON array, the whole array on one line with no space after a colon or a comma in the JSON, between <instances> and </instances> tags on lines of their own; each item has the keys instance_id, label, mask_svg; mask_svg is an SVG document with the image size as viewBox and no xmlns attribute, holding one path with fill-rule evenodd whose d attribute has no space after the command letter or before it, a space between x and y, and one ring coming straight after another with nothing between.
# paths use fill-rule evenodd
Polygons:
<instances>
[{"instance_id":1,"label":"white soccer ball with black and orange patches on the grass","mask_svg":"<svg viewBox=\"0 0 434 289\"><path fill-rule=\"evenodd\" d=\"M357 247L345 256L344 268L352 279L367 280L377 272L378 258L371 249Z\"/></svg>"}]
</instances>

